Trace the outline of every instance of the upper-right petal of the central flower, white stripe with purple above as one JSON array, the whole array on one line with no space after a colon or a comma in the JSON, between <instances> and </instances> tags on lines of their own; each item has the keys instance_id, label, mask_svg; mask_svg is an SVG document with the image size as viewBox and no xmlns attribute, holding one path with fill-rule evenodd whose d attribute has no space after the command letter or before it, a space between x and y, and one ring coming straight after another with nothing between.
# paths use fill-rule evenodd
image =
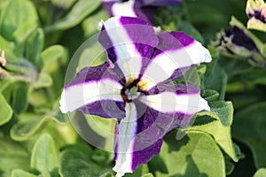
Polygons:
<instances>
[{"instance_id":1,"label":"upper-right petal of the central flower, white stripe with purple above","mask_svg":"<svg viewBox=\"0 0 266 177\"><path fill-rule=\"evenodd\" d=\"M160 43L139 82L142 89L148 90L166 81L176 69L211 61L209 51L182 32L160 33L158 36Z\"/></svg>"}]
</instances>

